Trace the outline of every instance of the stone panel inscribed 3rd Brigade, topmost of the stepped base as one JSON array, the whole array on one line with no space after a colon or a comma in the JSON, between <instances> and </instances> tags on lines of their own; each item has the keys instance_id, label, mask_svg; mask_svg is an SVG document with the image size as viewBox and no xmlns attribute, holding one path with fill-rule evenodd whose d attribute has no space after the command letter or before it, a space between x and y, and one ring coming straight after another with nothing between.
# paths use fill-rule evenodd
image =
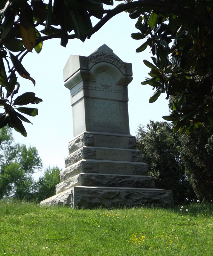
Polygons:
<instances>
[{"instance_id":1,"label":"stone panel inscribed 3rd Brigade, topmost of the stepped base","mask_svg":"<svg viewBox=\"0 0 213 256\"><path fill-rule=\"evenodd\" d=\"M93 135L94 147L128 148L128 138L116 136Z\"/></svg>"}]
</instances>

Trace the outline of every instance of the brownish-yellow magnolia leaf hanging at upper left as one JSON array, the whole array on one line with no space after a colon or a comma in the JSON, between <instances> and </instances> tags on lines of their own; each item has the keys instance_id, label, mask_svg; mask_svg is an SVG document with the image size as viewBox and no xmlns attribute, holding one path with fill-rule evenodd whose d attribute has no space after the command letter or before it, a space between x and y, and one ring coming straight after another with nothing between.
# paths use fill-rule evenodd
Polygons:
<instances>
[{"instance_id":1,"label":"brownish-yellow magnolia leaf hanging at upper left","mask_svg":"<svg viewBox=\"0 0 213 256\"><path fill-rule=\"evenodd\" d=\"M29 52L32 52L33 48L35 47L36 40L34 24L30 24L28 30L20 25L20 31L23 45Z\"/></svg>"}]
</instances>

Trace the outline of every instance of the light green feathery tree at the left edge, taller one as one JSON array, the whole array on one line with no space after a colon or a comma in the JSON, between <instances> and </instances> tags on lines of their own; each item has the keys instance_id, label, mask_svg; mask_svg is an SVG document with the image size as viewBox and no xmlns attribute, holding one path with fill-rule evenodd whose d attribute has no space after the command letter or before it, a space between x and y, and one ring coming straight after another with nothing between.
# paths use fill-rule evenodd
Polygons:
<instances>
[{"instance_id":1,"label":"light green feathery tree at the left edge, taller one","mask_svg":"<svg viewBox=\"0 0 213 256\"><path fill-rule=\"evenodd\" d=\"M33 173L42 168L37 149L15 143L8 126L0 129L0 142L0 198L32 200L36 192Z\"/></svg>"}]
</instances>

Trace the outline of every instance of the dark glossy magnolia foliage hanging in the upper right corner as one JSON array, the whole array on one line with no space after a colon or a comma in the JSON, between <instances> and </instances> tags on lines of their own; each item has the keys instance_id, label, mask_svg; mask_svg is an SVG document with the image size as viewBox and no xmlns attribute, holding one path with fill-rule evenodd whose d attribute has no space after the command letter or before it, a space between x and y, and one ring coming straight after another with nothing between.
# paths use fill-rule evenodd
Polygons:
<instances>
[{"instance_id":1,"label":"dark glossy magnolia foliage hanging in the upper right corner","mask_svg":"<svg viewBox=\"0 0 213 256\"><path fill-rule=\"evenodd\" d=\"M155 56L153 63L144 60L151 70L141 84L155 89L149 102L161 93L167 99L177 96L170 116L163 116L172 121L174 132L192 135L196 129L208 132L213 127L212 7L211 0L168 0L141 1L129 10L140 31L131 36L143 40L136 52L150 46Z\"/></svg>"}]
</instances>

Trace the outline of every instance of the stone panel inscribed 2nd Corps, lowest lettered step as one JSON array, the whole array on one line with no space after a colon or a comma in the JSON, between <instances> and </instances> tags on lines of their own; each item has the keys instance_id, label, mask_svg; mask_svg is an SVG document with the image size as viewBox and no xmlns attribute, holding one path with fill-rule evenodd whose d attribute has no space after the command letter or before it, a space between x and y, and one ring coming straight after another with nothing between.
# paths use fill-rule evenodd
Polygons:
<instances>
[{"instance_id":1,"label":"stone panel inscribed 2nd Corps, lowest lettered step","mask_svg":"<svg viewBox=\"0 0 213 256\"><path fill-rule=\"evenodd\" d=\"M133 174L132 164L99 162L99 173Z\"/></svg>"}]
</instances>

